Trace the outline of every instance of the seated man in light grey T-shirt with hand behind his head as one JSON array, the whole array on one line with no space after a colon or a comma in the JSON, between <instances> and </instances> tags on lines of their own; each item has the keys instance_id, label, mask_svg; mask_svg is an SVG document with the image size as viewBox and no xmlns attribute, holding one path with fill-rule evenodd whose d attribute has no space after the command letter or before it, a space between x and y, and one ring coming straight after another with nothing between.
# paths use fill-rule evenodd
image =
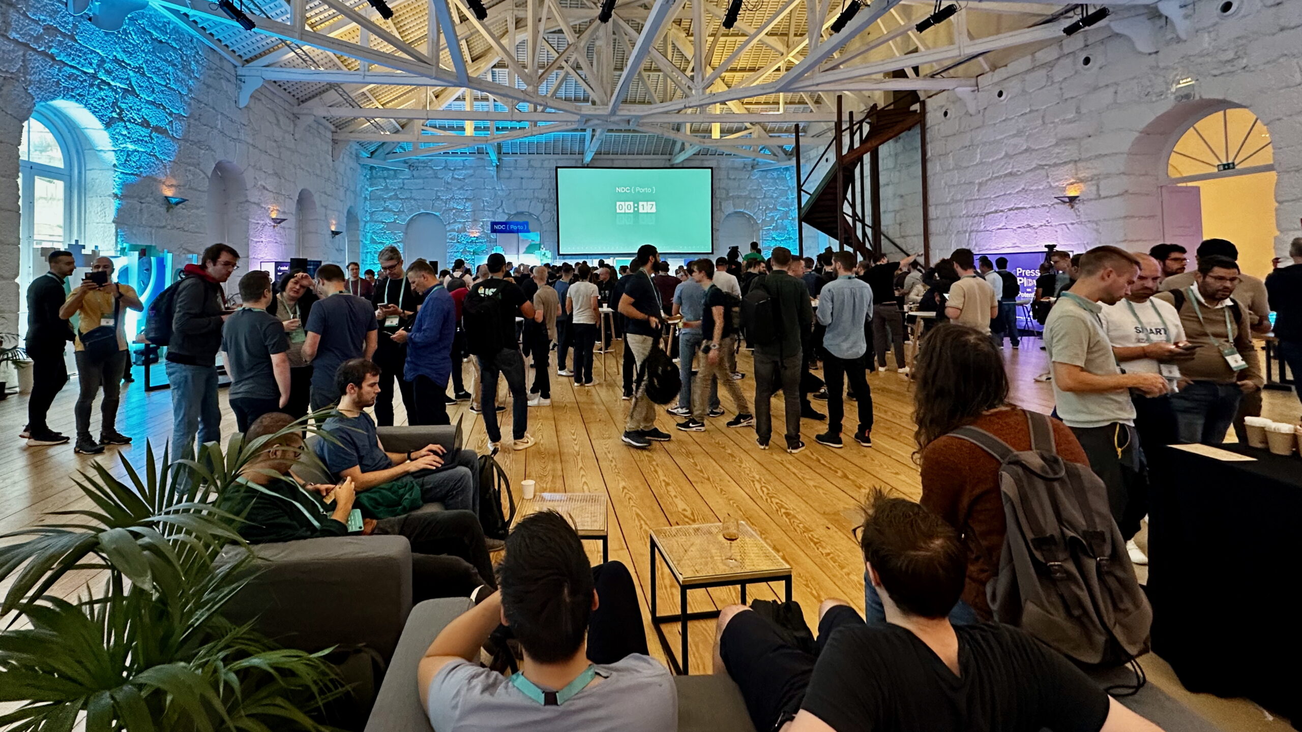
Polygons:
<instances>
[{"instance_id":1,"label":"seated man in light grey T-shirt with hand behind his head","mask_svg":"<svg viewBox=\"0 0 1302 732\"><path fill-rule=\"evenodd\" d=\"M435 729L677 729L673 679L647 655L622 564L592 568L569 522L544 511L506 537L499 572L501 591L449 623L421 659L421 702ZM510 677L475 663L503 623L525 653Z\"/></svg>"}]
</instances>

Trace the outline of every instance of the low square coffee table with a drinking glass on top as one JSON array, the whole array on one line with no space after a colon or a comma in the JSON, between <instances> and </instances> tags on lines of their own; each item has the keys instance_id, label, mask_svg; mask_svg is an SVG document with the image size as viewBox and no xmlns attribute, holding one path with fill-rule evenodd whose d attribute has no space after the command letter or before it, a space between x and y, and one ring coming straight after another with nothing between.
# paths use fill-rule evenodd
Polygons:
<instances>
[{"instance_id":1,"label":"low square coffee table with a drinking glass on top","mask_svg":"<svg viewBox=\"0 0 1302 732\"><path fill-rule=\"evenodd\" d=\"M687 612L687 590L708 587L741 587L741 603L746 604L746 585L753 582L786 582L786 602L792 602L792 567L777 556L759 534L745 521L738 522L741 538L728 542L723 537L723 524L693 526L667 526L651 530L651 625L655 626L660 646L674 673L690 669L687 656L687 621L719 617L717 610ZM728 563L729 546L736 564ZM678 582L678 613L656 615L656 555L664 560L669 573ZM663 623L678 623L682 633L682 666L673 655L669 641L660 628Z\"/></svg>"}]
</instances>

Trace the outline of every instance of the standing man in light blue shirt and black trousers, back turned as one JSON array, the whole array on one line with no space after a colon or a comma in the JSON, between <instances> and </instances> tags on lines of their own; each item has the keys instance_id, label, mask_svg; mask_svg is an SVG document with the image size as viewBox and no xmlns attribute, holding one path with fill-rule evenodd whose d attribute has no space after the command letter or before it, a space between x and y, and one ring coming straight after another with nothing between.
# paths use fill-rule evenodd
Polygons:
<instances>
[{"instance_id":1,"label":"standing man in light blue shirt and black trousers, back turned","mask_svg":"<svg viewBox=\"0 0 1302 732\"><path fill-rule=\"evenodd\" d=\"M863 323L872 317L872 288L854 276L854 254L837 251L832 255L836 279L823 285L819 293L818 322L827 327L823 333L823 379L827 380L827 431L815 436L819 444L841 447L841 419L845 415L845 392L841 378L850 382L858 397L859 426L854 442L872 447L872 392L865 376L863 356L868 344L863 337Z\"/></svg>"}]
</instances>

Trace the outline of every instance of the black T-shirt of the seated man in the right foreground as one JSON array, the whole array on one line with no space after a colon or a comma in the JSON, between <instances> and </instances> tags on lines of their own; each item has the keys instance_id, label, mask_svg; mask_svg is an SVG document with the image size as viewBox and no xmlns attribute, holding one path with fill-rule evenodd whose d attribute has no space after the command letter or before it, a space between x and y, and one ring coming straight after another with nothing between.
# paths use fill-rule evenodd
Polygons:
<instances>
[{"instance_id":1,"label":"black T-shirt of the seated man in the right foreground","mask_svg":"<svg viewBox=\"0 0 1302 732\"><path fill-rule=\"evenodd\" d=\"M837 629L803 709L836 732L1098 732L1108 696L1081 669L1008 625L960 625L961 676L898 625Z\"/></svg>"}]
</instances>

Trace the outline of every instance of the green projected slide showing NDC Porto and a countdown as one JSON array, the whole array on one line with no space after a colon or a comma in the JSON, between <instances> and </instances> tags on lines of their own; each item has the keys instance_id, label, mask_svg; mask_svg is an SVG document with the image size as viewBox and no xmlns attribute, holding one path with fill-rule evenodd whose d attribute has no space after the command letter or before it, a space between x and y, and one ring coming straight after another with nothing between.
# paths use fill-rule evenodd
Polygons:
<instances>
[{"instance_id":1,"label":"green projected slide showing NDC Porto and a countdown","mask_svg":"<svg viewBox=\"0 0 1302 732\"><path fill-rule=\"evenodd\" d=\"M712 168L556 168L559 255L713 250Z\"/></svg>"}]
</instances>

